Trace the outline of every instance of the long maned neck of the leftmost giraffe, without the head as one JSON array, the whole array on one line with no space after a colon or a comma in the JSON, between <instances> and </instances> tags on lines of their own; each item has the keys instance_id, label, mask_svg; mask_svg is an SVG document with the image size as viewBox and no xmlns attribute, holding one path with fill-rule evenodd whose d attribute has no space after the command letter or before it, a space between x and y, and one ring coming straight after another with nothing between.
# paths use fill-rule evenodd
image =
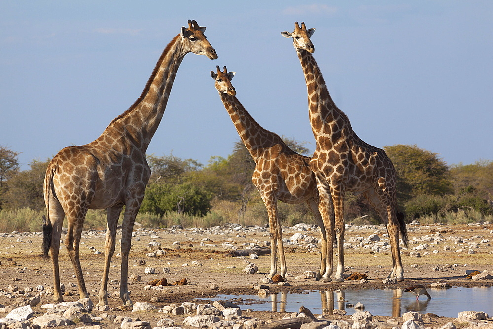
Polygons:
<instances>
[{"instance_id":1,"label":"long maned neck of the leftmost giraffe, without the head","mask_svg":"<svg viewBox=\"0 0 493 329\"><path fill-rule=\"evenodd\" d=\"M177 35L161 54L141 96L109 124L100 138L113 135L115 143L131 141L145 154L161 122L176 72L186 54L181 37Z\"/></svg>"}]
</instances>

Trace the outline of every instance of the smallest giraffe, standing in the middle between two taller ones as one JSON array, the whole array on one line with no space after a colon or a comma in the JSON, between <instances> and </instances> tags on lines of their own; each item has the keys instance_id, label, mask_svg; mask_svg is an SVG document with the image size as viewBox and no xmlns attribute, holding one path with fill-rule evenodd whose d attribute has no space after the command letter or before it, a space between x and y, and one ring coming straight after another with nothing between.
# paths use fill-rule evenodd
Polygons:
<instances>
[{"instance_id":1,"label":"smallest giraffe, standing in the middle between two taller ones","mask_svg":"<svg viewBox=\"0 0 493 329\"><path fill-rule=\"evenodd\" d=\"M211 71L215 80L215 88L221 101L233 121L238 135L255 161L252 183L260 192L262 201L267 208L269 231L271 239L271 270L269 278L277 272L277 249L279 249L281 275L286 276L286 258L282 244L282 229L277 215L277 201L299 204L306 202L312 210L322 240L320 270L317 280L325 272L327 256L327 234L318 211L318 190L315 176L310 169L310 158L290 149L279 135L262 128L251 117L248 111L236 98L236 90L231 84L235 72L229 72L224 67L217 73Z\"/></svg>"}]
</instances>

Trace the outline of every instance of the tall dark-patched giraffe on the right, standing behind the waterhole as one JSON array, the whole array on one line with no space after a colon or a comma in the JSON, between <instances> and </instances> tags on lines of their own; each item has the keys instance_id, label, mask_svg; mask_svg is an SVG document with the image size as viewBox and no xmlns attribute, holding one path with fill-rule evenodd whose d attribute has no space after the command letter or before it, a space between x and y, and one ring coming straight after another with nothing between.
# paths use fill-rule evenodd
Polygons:
<instances>
[{"instance_id":1,"label":"tall dark-patched giraffe on the right, standing behind the waterhole","mask_svg":"<svg viewBox=\"0 0 493 329\"><path fill-rule=\"evenodd\" d=\"M337 234L338 264L334 282L342 282L344 273L344 196L346 191L362 194L375 209L387 227L390 237L393 268L390 278L404 280L404 269L399 251L399 230L407 247L407 230L404 215L397 211L396 172L384 150L361 140L352 130L351 123L335 105L325 85L322 73L312 56L315 48L310 37L315 29L305 23L295 23L294 32L282 32L293 38L305 75L308 93L310 125L316 140L316 149L310 161L315 173L320 195L322 217L334 212ZM329 230L328 230L329 231ZM328 237L328 253L332 254L334 236ZM326 271L322 278L330 281L332 257L328 255Z\"/></svg>"}]
</instances>

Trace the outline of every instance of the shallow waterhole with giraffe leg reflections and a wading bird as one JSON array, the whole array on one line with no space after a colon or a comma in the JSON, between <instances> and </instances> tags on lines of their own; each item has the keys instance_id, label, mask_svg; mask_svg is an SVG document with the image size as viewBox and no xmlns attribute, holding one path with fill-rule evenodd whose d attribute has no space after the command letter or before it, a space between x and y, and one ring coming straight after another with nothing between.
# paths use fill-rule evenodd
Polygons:
<instances>
[{"instance_id":1,"label":"shallow waterhole with giraffe leg reflections and a wading bird","mask_svg":"<svg viewBox=\"0 0 493 329\"><path fill-rule=\"evenodd\" d=\"M416 296L401 289L372 289L346 291L307 291L304 293L279 292L267 297L257 295L218 295L212 300L232 300L242 307L254 311L297 312L305 306L316 314L332 314L334 309L346 310L348 315L356 312L350 303L363 303L364 311L372 315L401 316L406 312L434 313L455 318L462 311L483 311L493 315L493 288L476 287L428 289L431 300ZM242 298L243 301L239 301Z\"/></svg>"}]
</instances>

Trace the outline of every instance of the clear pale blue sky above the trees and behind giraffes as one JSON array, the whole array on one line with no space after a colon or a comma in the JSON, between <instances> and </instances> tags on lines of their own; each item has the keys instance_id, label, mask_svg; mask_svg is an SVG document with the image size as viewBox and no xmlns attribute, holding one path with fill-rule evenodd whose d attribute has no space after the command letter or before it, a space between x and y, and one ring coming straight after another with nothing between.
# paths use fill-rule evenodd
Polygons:
<instances>
[{"instance_id":1,"label":"clear pale blue sky above the trees and behind giraffes","mask_svg":"<svg viewBox=\"0 0 493 329\"><path fill-rule=\"evenodd\" d=\"M22 169L96 139L141 94L188 19L219 58L188 54L149 154L207 164L239 137L210 71L265 129L315 143L290 39L316 28L314 57L355 132L416 144L449 165L493 160L493 1L0 1L0 145ZM304 2L304 4L300 4Z\"/></svg>"}]
</instances>

